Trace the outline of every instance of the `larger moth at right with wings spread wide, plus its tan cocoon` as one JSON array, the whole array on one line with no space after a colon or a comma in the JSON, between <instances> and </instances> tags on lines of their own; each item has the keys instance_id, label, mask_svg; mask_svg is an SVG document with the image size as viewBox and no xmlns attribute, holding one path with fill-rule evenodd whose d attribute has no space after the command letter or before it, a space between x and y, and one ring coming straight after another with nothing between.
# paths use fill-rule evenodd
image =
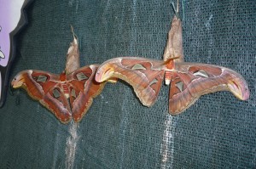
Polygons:
<instances>
[{"instance_id":1,"label":"larger moth at right with wings spread wide, plus its tan cocoon","mask_svg":"<svg viewBox=\"0 0 256 169\"><path fill-rule=\"evenodd\" d=\"M165 78L166 85L170 85L169 113L172 115L188 109L201 95L207 93L230 91L238 99L249 98L247 82L236 71L218 65L184 62L178 3L163 60L137 57L109 59L96 71L96 82L113 77L131 84L137 97L146 106L154 104Z\"/></svg>"}]
</instances>

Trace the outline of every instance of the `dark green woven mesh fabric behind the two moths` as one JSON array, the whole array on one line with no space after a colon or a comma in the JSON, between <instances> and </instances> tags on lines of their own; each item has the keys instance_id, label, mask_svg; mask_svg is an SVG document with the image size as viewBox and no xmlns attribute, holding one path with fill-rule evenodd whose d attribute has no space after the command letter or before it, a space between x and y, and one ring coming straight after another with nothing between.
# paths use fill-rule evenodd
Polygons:
<instances>
[{"instance_id":1,"label":"dark green woven mesh fabric behind the two moths","mask_svg":"<svg viewBox=\"0 0 256 169\"><path fill-rule=\"evenodd\" d=\"M61 73L70 25L81 65L119 56L162 59L173 14L169 0L36 0L10 78L26 69ZM0 110L0 168L255 168L256 3L183 0L183 14L185 60L236 70L250 99L212 93L172 116L169 87L147 108L125 82L108 83L78 125L63 125L16 90Z\"/></svg>"}]
</instances>

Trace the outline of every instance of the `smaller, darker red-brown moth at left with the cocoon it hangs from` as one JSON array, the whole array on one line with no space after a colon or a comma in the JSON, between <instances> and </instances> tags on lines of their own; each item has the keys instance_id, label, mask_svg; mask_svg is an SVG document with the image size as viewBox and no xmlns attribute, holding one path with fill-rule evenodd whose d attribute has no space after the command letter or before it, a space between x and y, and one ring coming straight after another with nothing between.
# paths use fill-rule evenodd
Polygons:
<instances>
[{"instance_id":1,"label":"smaller, darker red-brown moth at left with the cocoon it hangs from","mask_svg":"<svg viewBox=\"0 0 256 169\"><path fill-rule=\"evenodd\" d=\"M32 99L38 100L62 123L72 118L79 122L105 85L105 82L95 81L98 66L80 68L79 42L73 33L73 42L67 51L66 69L61 75L42 70L23 70L15 76L11 85L14 88L23 87Z\"/></svg>"}]
</instances>

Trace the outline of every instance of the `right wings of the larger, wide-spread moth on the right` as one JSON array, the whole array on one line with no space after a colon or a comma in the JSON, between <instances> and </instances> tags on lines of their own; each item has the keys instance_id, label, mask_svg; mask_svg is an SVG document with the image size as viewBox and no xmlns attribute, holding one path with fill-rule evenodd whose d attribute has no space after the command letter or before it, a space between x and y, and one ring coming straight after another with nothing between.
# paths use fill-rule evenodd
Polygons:
<instances>
[{"instance_id":1,"label":"right wings of the larger, wide-spread moth on the right","mask_svg":"<svg viewBox=\"0 0 256 169\"><path fill-rule=\"evenodd\" d=\"M217 91L230 91L238 99L248 99L245 80L236 73L217 65L176 64L169 96L169 112L179 114L194 104L201 95Z\"/></svg>"}]
</instances>

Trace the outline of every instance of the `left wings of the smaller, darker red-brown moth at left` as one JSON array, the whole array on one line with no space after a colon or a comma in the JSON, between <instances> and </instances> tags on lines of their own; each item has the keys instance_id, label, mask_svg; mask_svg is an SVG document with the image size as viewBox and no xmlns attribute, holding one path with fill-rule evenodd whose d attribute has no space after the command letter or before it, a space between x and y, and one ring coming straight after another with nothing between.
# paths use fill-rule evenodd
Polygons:
<instances>
[{"instance_id":1,"label":"left wings of the smaller, darker red-brown moth at left","mask_svg":"<svg viewBox=\"0 0 256 169\"><path fill-rule=\"evenodd\" d=\"M48 108L61 122L70 121L71 110L59 76L41 70L24 70L15 76L12 86L25 88L33 99Z\"/></svg>"}]
</instances>

